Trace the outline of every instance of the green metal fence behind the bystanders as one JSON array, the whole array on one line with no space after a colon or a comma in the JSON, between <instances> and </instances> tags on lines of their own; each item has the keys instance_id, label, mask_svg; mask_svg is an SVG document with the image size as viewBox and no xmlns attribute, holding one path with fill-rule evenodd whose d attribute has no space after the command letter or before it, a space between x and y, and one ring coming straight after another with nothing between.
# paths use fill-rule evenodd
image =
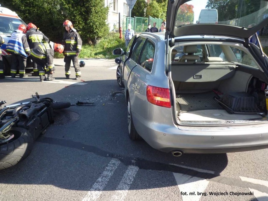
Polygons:
<instances>
[{"instance_id":1,"label":"green metal fence behind the bystanders","mask_svg":"<svg viewBox=\"0 0 268 201\"><path fill-rule=\"evenodd\" d=\"M123 29L123 34L125 34L127 30L127 25L129 24L129 17L122 16L121 17L121 27ZM148 18L145 17L134 17L131 18L131 26L135 33L141 33L148 28L148 24L153 26L153 23L156 22L156 27L159 29L163 19L153 18L149 16Z\"/></svg>"}]
</instances>

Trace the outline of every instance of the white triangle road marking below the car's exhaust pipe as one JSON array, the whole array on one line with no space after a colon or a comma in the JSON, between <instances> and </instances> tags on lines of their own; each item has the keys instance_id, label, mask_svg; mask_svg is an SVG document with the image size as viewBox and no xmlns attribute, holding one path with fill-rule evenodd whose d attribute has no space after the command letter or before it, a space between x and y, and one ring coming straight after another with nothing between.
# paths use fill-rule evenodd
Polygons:
<instances>
[{"instance_id":1,"label":"white triangle road marking below the car's exhaust pipe","mask_svg":"<svg viewBox=\"0 0 268 201\"><path fill-rule=\"evenodd\" d=\"M195 176L189 176L173 172L183 201L199 201L202 193L206 190L209 181ZM183 193L186 193L183 195ZM190 193L193 193L190 195ZM199 193L199 195L198 195ZM201 194L201 195L200 195Z\"/></svg>"}]
</instances>

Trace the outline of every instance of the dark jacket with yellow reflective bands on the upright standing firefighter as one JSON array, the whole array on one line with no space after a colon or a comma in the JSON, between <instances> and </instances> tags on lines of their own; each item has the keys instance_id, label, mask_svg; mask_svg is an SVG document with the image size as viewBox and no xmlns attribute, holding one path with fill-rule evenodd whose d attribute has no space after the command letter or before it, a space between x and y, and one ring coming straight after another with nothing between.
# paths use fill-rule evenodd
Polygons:
<instances>
[{"instance_id":1,"label":"dark jacket with yellow reflective bands on the upright standing firefighter","mask_svg":"<svg viewBox=\"0 0 268 201\"><path fill-rule=\"evenodd\" d=\"M80 53L82 49L82 40L76 31L70 30L64 32L64 55L65 56L75 56L76 53Z\"/></svg>"}]
</instances>

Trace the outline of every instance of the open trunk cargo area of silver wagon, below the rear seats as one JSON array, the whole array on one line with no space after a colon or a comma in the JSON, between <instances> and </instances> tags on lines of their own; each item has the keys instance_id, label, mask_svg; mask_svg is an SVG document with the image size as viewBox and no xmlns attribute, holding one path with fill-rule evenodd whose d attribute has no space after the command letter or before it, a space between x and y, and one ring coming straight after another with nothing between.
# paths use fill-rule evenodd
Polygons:
<instances>
[{"instance_id":1,"label":"open trunk cargo area of silver wagon, below the rear seats","mask_svg":"<svg viewBox=\"0 0 268 201\"><path fill-rule=\"evenodd\" d=\"M172 64L181 124L266 123L263 73L236 64Z\"/></svg>"}]
</instances>

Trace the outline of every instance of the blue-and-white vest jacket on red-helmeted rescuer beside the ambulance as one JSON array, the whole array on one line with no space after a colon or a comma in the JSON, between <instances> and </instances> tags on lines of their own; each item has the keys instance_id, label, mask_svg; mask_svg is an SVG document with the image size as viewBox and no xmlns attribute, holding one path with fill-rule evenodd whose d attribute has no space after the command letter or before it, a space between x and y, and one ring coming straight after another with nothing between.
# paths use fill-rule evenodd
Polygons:
<instances>
[{"instance_id":1,"label":"blue-and-white vest jacket on red-helmeted rescuer beside the ambulance","mask_svg":"<svg viewBox=\"0 0 268 201\"><path fill-rule=\"evenodd\" d=\"M24 42L22 41L22 38L25 37ZM9 53L15 53L20 54L23 57L28 57L27 53L30 54L31 50L29 48L29 45L27 43L27 39L24 33L20 32L13 32L10 40L7 44L7 52Z\"/></svg>"}]
</instances>

